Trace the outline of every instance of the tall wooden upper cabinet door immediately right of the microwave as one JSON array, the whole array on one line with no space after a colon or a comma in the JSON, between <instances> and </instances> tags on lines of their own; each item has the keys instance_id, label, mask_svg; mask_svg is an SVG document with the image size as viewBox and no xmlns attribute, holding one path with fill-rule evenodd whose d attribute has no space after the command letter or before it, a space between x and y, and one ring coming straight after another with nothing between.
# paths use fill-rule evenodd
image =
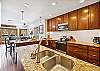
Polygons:
<instances>
[{"instance_id":1,"label":"tall wooden upper cabinet door immediately right of the microwave","mask_svg":"<svg viewBox=\"0 0 100 71\"><path fill-rule=\"evenodd\" d=\"M77 30L77 10L68 14L69 30Z\"/></svg>"}]
</instances>

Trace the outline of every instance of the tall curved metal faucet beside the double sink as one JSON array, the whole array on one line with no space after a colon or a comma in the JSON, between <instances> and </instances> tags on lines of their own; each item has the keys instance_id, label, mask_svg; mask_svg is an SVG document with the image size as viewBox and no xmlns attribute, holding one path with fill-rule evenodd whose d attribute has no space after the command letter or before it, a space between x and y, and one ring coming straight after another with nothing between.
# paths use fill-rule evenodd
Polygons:
<instances>
[{"instance_id":1,"label":"tall curved metal faucet beside the double sink","mask_svg":"<svg viewBox=\"0 0 100 71\"><path fill-rule=\"evenodd\" d=\"M38 44L38 48L35 50L35 54L33 54L33 53L31 54L31 57L32 58L37 58L37 63L40 63L39 51L40 51L40 45L41 45L43 39L45 39L45 38L41 37L40 42ZM48 45L48 42L47 41L46 41L46 43L47 43L46 45ZM37 53L36 53L36 51L37 51Z\"/></svg>"}]
</instances>

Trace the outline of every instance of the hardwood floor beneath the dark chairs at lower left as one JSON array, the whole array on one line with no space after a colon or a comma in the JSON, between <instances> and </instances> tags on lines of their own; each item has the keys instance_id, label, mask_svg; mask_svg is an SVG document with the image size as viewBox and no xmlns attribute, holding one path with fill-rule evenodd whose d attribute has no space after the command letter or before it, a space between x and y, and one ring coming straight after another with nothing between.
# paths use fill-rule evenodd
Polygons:
<instances>
[{"instance_id":1,"label":"hardwood floor beneath the dark chairs at lower left","mask_svg":"<svg viewBox=\"0 0 100 71\"><path fill-rule=\"evenodd\" d=\"M0 71L24 71L24 68L18 59L17 64L14 64L10 53L5 56L5 45L0 45Z\"/></svg>"}]
</instances>

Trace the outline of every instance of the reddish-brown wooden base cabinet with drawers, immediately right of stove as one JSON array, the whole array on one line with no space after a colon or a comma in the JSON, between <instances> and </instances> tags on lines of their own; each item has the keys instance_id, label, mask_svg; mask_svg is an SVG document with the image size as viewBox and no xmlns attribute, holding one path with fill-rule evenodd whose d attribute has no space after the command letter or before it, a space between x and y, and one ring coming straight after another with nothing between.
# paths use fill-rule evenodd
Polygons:
<instances>
[{"instance_id":1,"label":"reddish-brown wooden base cabinet with drawers, immediately right of stove","mask_svg":"<svg viewBox=\"0 0 100 71\"><path fill-rule=\"evenodd\" d=\"M87 48L87 47L85 47ZM77 57L79 59L82 59L84 61L87 61L87 49L84 49L84 47L81 46L80 48L80 45L71 45L71 44L68 44L67 46L67 53L73 57Z\"/></svg>"}]
</instances>

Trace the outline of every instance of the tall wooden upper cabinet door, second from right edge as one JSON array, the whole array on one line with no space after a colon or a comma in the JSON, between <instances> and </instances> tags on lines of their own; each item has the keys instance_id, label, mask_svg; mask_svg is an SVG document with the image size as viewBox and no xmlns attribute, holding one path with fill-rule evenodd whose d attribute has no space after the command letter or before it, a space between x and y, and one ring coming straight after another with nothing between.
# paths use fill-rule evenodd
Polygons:
<instances>
[{"instance_id":1,"label":"tall wooden upper cabinet door, second from right edge","mask_svg":"<svg viewBox=\"0 0 100 71\"><path fill-rule=\"evenodd\" d=\"M78 30L88 29L88 7L78 9Z\"/></svg>"}]
</instances>

